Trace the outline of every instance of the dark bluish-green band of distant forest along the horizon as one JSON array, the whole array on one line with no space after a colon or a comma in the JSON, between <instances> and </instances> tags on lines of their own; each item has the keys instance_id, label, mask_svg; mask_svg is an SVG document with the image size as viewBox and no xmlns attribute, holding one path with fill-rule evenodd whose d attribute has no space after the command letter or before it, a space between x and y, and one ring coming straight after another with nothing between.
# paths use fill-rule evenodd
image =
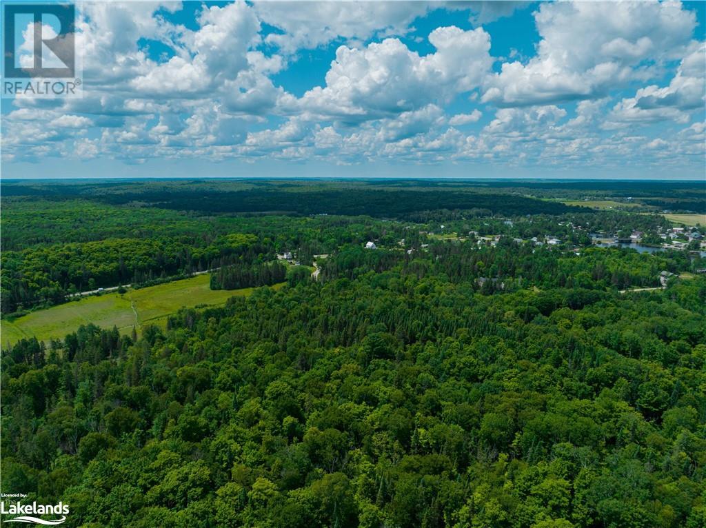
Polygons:
<instances>
[{"instance_id":1,"label":"dark bluish-green band of distant forest along the horizon","mask_svg":"<svg viewBox=\"0 0 706 528\"><path fill-rule=\"evenodd\" d=\"M280 180L68 180L4 181L4 199L98 200L102 205L152 205L162 210L201 212L291 212L300 215L409 217L439 209L476 209L513 214L576 208L566 200L616 199L642 211L706 213L701 181L610 181L520 179L280 179ZM537 199L539 198L539 199ZM550 201L547 201L550 200ZM152 213L168 217L168 212Z\"/></svg>"}]
</instances>

